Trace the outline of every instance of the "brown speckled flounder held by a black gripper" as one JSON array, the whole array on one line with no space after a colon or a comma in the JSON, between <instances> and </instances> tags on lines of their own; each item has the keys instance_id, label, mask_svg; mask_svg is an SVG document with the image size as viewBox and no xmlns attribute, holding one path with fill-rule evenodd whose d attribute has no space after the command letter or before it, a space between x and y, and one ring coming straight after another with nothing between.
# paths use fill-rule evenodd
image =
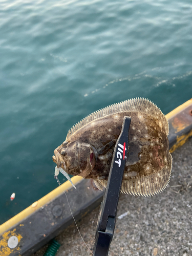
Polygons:
<instances>
[{"instance_id":1,"label":"brown speckled flounder held by a black gripper","mask_svg":"<svg viewBox=\"0 0 192 256\"><path fill-rule=\"evenodd\" d=\"M54 151L53 161L69 175L92 178L106 187L124 116L132 118L121 192L151 196L168 184L172 170L168 121L144 98L126 100L93 112L75 124Z\"/></svg>"}]
</instances>

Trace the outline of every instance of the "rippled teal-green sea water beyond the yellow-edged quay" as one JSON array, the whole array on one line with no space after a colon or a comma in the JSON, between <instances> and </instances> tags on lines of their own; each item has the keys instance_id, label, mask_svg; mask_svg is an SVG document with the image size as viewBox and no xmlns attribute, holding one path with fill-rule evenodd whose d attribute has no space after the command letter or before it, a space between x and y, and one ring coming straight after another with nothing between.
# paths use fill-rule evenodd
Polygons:
<instances>
[{"instance_id":1,"label":"rippled teal-green sea water beyond the yellow-edged quay","mask_svg":"<svg viewBox=\"0 0 192 256\"><path fill-rule=\"evenodd\" d=\"M0 224L58 186L73 124L134 97L192 97L191 0L1 1Z\"/></svg>"}]
</instances>

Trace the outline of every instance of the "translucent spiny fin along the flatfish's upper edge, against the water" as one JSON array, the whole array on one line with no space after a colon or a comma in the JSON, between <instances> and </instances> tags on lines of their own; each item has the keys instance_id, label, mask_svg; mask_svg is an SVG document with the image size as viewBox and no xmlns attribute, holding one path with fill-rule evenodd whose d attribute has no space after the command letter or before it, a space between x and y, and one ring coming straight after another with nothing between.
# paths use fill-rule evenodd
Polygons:
<instances>
[{"instance_id":1,"label":"translucent spiny fin along the flatfish's upper edge, against the water","mask_svg":"<svg viewBox=\"0 0 192 256\"><path fill-rule=\"evenodd\" d=\"M87 117L84 117L81 121L76 123L68 132L66 140L82 126L95 121L101 117L117 114L120 112L143 112L154 116L159 119L162 126L165 127L166 135L168 135L168 121L160 109L150 100L145 98L135 98L122 101L113 105L106 106L106 108L97 110Z\"/></svg>"}]
</instances>

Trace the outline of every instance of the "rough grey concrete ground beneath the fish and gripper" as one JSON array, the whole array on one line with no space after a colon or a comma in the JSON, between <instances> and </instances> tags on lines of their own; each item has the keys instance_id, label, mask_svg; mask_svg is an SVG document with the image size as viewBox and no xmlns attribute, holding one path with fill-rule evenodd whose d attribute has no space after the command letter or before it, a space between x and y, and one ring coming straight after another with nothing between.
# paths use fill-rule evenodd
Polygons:
<instances>
[{"instance_id":1,"label":"rough grey concrete ground beneath the fish and gripper","mask_svg":"<svg viewBox=\"0 0 192 256\"><path fill-rule=\"evenodd\" d=\"M109 256L192 255L192 139L173 154L169 186L157 196L121 195ZM65 195L63 195L65 196ZM77 223L84 241L93 249L99 208ZM91 255L77 228L71 225L56 238L56 256ZM42 256L47 246L34 253Z\"/></svg>"}]
</instances>

